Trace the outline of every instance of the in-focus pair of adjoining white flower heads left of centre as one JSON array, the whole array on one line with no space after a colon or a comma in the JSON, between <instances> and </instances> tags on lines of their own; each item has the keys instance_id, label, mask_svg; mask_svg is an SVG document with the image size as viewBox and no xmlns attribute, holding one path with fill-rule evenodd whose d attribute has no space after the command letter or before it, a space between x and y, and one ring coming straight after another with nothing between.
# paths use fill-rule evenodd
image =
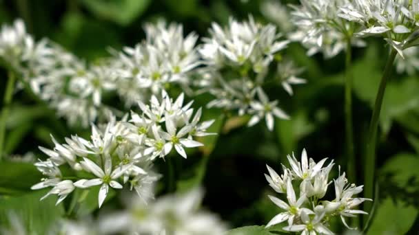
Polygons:
<instances>
[{"instance_id":1,"label":"in-focus pair of adjoining white flower heads left of centre","mask_svg":"<svg viewBox=\"0 0 419 235\"><path fill-rule=\"evenodd\" d=\"M91 141L74 135L59 144L52 138L53 150L40 147L49 158L35 164L48 178L32 189L52 187L45 197L57 194L60 203L75 188L100 185L99 207L110 187L121 189L127 183L140 197L149 197L143 192L159 179L152 161L169 155L172 148L186 158L184 148L203 146L194 137L210 135L206 128L213 121L200 123L201 109L194 114L191 104L183 105L183 93L174 101L163 91L160 100L152 96L150 105L139 102L142 113L132 112L128 122L125 117L121 122L113 118L103 128L92 124ZM63 165L72 168L73 175L63 175Z\"/></svg>"}]
</instances>

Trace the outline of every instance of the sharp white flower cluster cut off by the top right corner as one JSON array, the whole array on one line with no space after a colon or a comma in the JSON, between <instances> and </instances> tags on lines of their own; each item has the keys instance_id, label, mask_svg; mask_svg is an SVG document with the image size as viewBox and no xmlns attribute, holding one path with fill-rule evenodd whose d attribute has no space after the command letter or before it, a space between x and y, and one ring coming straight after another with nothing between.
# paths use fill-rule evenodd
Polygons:
<instances>
[{"instance_id":1,"label":"sharp white flower cluster cut off by the top right corner","mask_svg":"<svg viewBox=\"0 0 419 235\"><path fill-rule=\"evenodd\" d=\"M360 25L357 36L381 35L402 57L403 49L418 45L418 0L354 0L339 16Z\"/></svg>"}]
</instances>

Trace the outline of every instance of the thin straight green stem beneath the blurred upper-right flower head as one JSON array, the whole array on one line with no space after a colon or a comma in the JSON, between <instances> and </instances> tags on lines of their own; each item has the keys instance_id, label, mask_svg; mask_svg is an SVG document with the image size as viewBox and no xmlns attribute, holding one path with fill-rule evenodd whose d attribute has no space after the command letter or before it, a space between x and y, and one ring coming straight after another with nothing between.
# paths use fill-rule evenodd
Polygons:
<instances>
[{"instance_id":1,"label":"thin straight green stem beneath the blurred upper-right flower head","mask_svg":"<svg viewBox=\"0 0 419 235\"><path fill-rule=\"evenodd\" d=\"M356 182L355 155L354 155L354 124L352 122L352 71L351 71L351 39L347 40L345 59L345 134L348 159L348 177Z\"/></svg>"}]
</instances>

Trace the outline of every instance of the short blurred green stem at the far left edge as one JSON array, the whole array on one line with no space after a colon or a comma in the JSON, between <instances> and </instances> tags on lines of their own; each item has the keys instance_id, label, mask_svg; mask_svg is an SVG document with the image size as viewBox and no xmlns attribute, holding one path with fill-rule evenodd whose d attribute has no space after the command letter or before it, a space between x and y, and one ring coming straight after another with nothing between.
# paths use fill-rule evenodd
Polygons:
<instances>
[{"instance_id":1,"label":"short blurred green stem at the far left edge","mask_svg":"<svg viewBox=\"0 0 419 235\"><path fill-rule=\"evenodd\" d=\"M6 85L6 91L3 98L3 110L1 111L0 117L0 161L3 157L4 137L6 135L6 120L10 112L10 103L12 102L14 83L16 77L12 71L8 72L8 83Z\"/></svg>"}]
</instances>

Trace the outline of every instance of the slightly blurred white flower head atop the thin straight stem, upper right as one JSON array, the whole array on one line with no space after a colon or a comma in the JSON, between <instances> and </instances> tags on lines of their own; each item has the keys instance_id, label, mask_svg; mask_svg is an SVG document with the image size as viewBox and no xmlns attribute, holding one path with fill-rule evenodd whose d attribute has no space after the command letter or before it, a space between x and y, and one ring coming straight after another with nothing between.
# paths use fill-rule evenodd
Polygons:
<instances>
[{"instance_id":1,"label":"slightly blurred white flower head atop the thin straight stem, upper right","mask_svg":"<svg viewBox=\"0 0 419 235\"><path fill-rule=\"evenodd\" d=\"M365 43L353 36L354 24L338 17L340 7L349 0L300 0L301 5L291 5L292 22L296 32L290 38L300 41L309 48L307 54L322 52L325 58L332 58L346 48L348 38L351 45L363 47Z\"/></svg>"}]
</instances>

